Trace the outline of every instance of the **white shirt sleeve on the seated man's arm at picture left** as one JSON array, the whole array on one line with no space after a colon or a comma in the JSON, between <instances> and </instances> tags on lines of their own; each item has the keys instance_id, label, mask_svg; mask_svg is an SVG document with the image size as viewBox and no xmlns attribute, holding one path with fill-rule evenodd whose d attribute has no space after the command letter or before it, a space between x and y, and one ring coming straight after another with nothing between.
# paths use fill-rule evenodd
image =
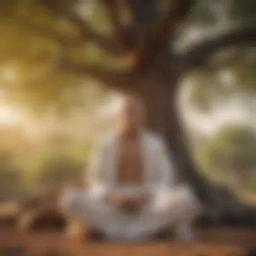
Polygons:
<instances>
[{"instance_id":1,"label":"white shirt sleeve on the seated man's arm at picture left","mask_svg":"<svg viewBox=\"0 0 256 256\"><path fill-rule=\"evenodd\" d=\"M107 146L103 141L94 152L92 165L88 170L89 193L94 197L103 198L108 192L106 150Z\"/></svg>"}]
</instances>

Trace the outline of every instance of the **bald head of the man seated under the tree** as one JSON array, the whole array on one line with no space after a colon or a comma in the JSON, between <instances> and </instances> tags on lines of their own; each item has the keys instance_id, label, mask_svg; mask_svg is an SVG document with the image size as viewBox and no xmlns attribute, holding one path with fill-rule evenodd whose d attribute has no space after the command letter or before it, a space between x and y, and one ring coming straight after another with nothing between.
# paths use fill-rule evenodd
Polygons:
<instances>
[{"instance_id":1,"label":"bald head of the man seated under the tree","mask_svg":"<svg viewBox=\"0 0 256 256\"><path fill-rule=\"evenodd\" d=\"M146 113L141 99L136 96L124 96L119 106L119 125L125 131L139 131L143 128Z\"/></svg>"}]
</instances>

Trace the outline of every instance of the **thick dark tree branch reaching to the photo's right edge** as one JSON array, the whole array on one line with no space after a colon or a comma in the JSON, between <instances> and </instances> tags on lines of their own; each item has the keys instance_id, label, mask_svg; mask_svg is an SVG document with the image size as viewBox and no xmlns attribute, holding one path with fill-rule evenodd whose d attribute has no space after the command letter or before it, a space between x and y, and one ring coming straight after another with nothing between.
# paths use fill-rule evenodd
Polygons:
<instances>
[{"instance_id":1,"label":"thick dark tree branch reaching to the photo's right edge","mask_svg":"<svg viewBox=\"0 0 256 256\"><path fill-rule=\"evenodd\" d=\"M241 26L229 32L224 32L203 42L193 45L179 56L179 69L182 72L194 67L202 67L220 49L228 46L256 46L256 25Z\"/></svg>"}]
</instances>

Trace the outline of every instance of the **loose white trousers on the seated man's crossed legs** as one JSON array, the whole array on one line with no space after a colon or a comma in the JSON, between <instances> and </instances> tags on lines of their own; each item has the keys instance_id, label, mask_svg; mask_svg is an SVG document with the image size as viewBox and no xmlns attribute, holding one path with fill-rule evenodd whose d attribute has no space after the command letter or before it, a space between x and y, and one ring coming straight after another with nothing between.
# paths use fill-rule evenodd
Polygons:
<instances>
[{"instance_id":1,"label":"loose white trousers on the seated man's crossed legs","mask_svg":"<svg viewBox=\"0 0 256 256\"><path fill-rule=\"evenodd\" d=\"M61 208L108 238L129 240L150 238L163 228L189 224L199 213L199 203L187 187L158 194L136 215L125 214L86 191L74 189L65 191Z\"/></svg>"}]
</instances>

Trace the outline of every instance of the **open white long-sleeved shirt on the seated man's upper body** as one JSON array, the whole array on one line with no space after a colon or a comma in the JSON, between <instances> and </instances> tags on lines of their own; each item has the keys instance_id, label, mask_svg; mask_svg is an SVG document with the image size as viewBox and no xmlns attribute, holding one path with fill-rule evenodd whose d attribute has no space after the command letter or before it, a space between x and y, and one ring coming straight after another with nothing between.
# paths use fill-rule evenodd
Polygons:
<instances>
[{"instance_id":1,"label":"open white long-sleeved shirt on the seated man's upper body","mask_svg":"<svg viewBox=\"0 0 256 256\"><path fill-rule=\"evenodd\" d=\"M142 166L144 168L144 181L141 189L147 189L156 194L167 191L174 184L174 167L164 141L149 131L143 131L141 140ZM119 145L119 133L108 135L100 141L92 167L88 172L90 194L103 197L110 189L119 187L116 179L119 165ZM131 189L140 188L132 187Z\"/></svg>"}]
</instances>

